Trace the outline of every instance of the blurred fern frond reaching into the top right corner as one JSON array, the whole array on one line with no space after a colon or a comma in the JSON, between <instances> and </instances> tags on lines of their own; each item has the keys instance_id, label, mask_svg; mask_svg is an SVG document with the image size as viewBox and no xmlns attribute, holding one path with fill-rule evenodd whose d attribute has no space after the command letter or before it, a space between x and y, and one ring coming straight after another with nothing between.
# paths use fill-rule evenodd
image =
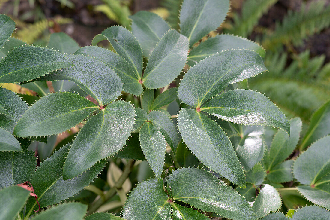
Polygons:
<instances>
[{"instance_id":1,"label":"blurred fern frond reaching into the top right corner","mask_svg":"<svg viewBox=\"0 0 330 220\"><path fill-rule=\"evenodd\" d=\"M277 23L273 33L265 36L262 45L275 51L282 44L299 45L306 37L320 32L330 26L330 5L319 0L307 8L303 4L300 11L289 11L282 23Z\"/></svg>"}]
</instances>

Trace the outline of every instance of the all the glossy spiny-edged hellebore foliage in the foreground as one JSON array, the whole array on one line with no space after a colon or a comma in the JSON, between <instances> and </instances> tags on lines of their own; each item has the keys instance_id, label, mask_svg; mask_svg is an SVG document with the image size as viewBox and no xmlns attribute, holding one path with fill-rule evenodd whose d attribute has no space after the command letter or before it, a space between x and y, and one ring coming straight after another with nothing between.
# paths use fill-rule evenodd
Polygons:
<instances>
[{"instance_id":1,"label":"all the glossy spiny-edged hellebore foliage in the foreground","mask_svg":"<svg viewBox=\"0 0 330 220\"><path fill-rule=\"evenodd\" d=\"M60 203L88 185L105 166L103 159L112 155L145 158L156 176L132 191L124 218L209 219L197 211L203 210L230 219L256 219L277 211L281 197L272 183L293 180L293 160L285 159L299 141L302 123L299 118L288 121L256 91L228 87L267 71L262 47L226 34L199 43L223 22L228 9L228 0L184 0L180 32L153 13L139 12L131 16L132 33L121 26L109 27L95 36L94 46L82 48L65 34L53 34L49 47L54 50L16 41L11 37L15 22L0 15L0 51L5 56L0 63L0 82L21 83L42 96L29 107L14 93L0 89L0 137L6 140L0 141L0 188L7 187L0 194L21 194L13 200L16 209L6 212L8 216L15 217L27 199L27 218L37 205L33 197L28 198L14 185L30 181L41 207ZM103 40L110 42L111 50L96 46ZM7 47L3 47L5 43ZM180 79L179 88L167 89L173 80ZM44 90L46 81L53 82L56 92ZM155 98L155 89L160 88ZM118 99L123 91L140 96L142 108ZM86 99L87 95L91 98ZM177 98L182 108L175 121L162 107ZM329 134L321 121L328 120L328 115L329 104L315 113L301 150ZM179 148L180 135L174 121L199 165L237 185L236 191L210 172L196 168L176 169L163 181L166 146L173 154ZM75 140L36 169L36 159L27 151L31 140L46 142L46 136L79 123L83 127ZM269 148L263 140L262 125L282 129ZM294 177L303 184L298 191L325 208L329 208L329 161L322 152L326 151L327 140L315 142L293 165ZM306 169L315 152L319 152L318 160ZM24 166L19 166L23 161ZM144 206L136 205L141 201ZM67 203L34 218L66 213L67 208L80 213L77 215L86 211L82 204ZM328 215L324 209L315 212ZM120 219L103 214L86 219Z\"/></svg>"}]
</instances>

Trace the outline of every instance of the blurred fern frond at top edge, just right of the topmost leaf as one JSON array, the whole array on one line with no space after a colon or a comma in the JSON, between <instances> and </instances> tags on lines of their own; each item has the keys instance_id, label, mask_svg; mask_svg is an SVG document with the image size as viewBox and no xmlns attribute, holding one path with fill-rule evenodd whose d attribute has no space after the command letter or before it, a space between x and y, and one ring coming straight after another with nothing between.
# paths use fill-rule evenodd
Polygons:
<instances>
[{"instance_id":1,"label":"blurred fern frond at top edge, just right of the topmost leaf","mask_svg":"<svg viewBox=\"0 0 330 220\"><path fill-rule=\"evenodd\" d=\"M234 24L228 31L234 35L247 37L258 24L259 19L278 0L247 0L243 3L241 15L234 14Z\"/></svg>"}]
</instances>

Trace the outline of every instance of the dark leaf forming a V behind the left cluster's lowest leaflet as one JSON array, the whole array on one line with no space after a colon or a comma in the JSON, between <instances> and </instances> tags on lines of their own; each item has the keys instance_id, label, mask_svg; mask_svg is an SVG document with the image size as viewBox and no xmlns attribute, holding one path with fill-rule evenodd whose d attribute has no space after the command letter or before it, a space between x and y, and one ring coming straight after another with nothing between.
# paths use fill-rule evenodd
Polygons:
<instances>
[{"instance_id":1,"label":"dark leaf forming a V behind the left cluster's lowest leaflet","mask_svg":"<svg viewBox=\"0 0 330 220\"><path fill-rule=\"evenodd\" d=\"M63 165L69 149L70 146L66 145L56 151L50 158L40 163L37 171L32 175L30 182L41 207L59 203L76 195L92 182L105 166L106 161L102 161L71 180L63 180ZM36 206L38 205L35 199L30 198L26 205L27 215L30 215Z\"/></svg>"}]
</instances>

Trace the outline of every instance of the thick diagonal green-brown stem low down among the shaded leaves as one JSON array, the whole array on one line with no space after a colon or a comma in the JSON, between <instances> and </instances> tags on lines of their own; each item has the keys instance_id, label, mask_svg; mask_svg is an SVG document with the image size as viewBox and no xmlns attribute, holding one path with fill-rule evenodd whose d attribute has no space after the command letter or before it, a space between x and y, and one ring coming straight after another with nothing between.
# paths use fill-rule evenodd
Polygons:
<instances>
[{"instance_id":1,"label":"thick diagonal green-brown stem low down among the shaded leaves","mask_svg":"<svg viewBox=\"0 0 330 220\"><path fill-rule=\"evenodd\" d=\"M110 198L116 195L117 190L121 189L123 183L128 178L129 174L132 171L132 168L134 166L135 160L129 160L127 165L125 166L125 169L123 170L123 173L119 177L118 181L116 182L115 186L111 188L106 194L104 194L104 200L100 197L97 200L95 200L88 209L87 215L92 214L95 212L101 205L103 205L105 202L107 202Z\"/></svg>"}]
</instances>

